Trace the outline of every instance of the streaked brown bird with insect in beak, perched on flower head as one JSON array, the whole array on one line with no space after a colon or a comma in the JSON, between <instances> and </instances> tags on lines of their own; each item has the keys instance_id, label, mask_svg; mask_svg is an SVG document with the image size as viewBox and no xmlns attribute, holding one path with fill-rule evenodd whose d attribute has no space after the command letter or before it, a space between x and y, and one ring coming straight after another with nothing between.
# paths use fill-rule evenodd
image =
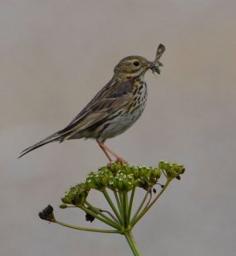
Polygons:
<instances>
[{"instance_id":1,"label":"streaked brown bird with insect in beak, perched on flower head","mask_svg":"<svg viewBox=\"0 0 236 256\"><path fill-rule=\"evenodd\" d=\"M90 138L98 143L109 163L112 162L112 155L117 162L127 164L127 160L108 148L105 142L128 130L140 118L147 102L147 84L144 75L147 70L160 73L159 67L163 64L158 60L164 50L164 44L159 44L154 61L147 61L139 55L123 58L114 68L112 79L69 125L26 148L20 153L19 158L48 143Z\"/></svg>"}]
</instances>

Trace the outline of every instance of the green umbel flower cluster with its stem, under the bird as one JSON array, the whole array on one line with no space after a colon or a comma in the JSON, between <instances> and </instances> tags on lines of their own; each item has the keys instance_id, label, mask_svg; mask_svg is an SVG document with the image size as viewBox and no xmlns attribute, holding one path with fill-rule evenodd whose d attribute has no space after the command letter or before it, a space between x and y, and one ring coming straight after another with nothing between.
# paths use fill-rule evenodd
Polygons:
<instances>
[{"instance_id":1,"label":"green umbel flower cluster with its stem, under the bird","mask_svg":"<svg viewBox=\"0 0 236 256\"><path fill-rule=\"evenodd\" d=\"M87 221L97 219L112 227L112 230L90 229L62 223L56 220L51 206L39 212L39 217L76 230L124 235L134 255L141 255L131 233L133 227L163 194L170 182L173 179L180 179L184 172L183 165L166 161L160 161L157 167L112 163L109 166L102 166L97 172L90 172L84 183L73 186L61 198L60 208L79 208L85 212ZM163 184L159 183L162 176L165 180ZM92 189L104 195L110 209L101 209L89 202L89 192ZM136 189L144 191L142 200L135 198ZM135 209L134 201L140 201L139 207Z\"/></svg>"}]
</instances>

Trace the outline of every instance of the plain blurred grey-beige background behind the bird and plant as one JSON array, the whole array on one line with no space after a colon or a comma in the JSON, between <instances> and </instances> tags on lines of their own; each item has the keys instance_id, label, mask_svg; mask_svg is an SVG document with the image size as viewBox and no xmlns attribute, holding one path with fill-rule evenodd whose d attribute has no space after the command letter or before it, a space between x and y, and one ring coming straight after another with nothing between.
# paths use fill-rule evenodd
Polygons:
<instances>
[{"instance_id":1,"label":"plain blurred grey-beige background behind the bird and plant","mask_svg":"<svg viewBox=\"0 0 236 256\"><path fill-rule=\"evenodd\" d=\"M166 46L161 75L147 73L141 119L107 145L131 164L186 166L134 230L143 255L236 253L235 1L0 1L0 254L131 255L122 236L48 224L51 204L106 165L94 141L20 151L64 128L112 78L127 55L153 60ZM141 195L141 194L140 194ZM101 197L93 195L102 205Z\"/></svg>"}]
</instances>

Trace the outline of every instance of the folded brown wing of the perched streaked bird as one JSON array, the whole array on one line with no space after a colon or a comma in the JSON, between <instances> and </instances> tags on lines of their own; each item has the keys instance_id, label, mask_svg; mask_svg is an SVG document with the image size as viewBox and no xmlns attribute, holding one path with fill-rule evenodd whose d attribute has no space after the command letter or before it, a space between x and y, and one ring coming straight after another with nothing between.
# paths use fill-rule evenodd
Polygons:
<instances>
[{"instance_id":1,"label":"folded brown wing of the perched streaked bird","mask_svg":"<svg viewBox=\"0 0 236 256\"><path fill-rule=\"evenodd\" d=\"M128 102L132 96L133 86L129 80L114 81L113 79L103 87L89 104L72 119L72 122L57 134L61 141L72 134L83 131L91 125L95 125L110 114L118 111Z\"/></svg>"}]
</instances>

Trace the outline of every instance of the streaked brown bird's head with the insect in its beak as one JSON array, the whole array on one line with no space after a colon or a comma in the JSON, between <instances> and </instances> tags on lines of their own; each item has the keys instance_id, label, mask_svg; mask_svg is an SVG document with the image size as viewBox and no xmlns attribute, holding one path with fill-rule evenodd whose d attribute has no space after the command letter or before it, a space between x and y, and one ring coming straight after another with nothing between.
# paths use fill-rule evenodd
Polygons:
<instances>
[{"instance_id":1,"label":"streaked brown bird's head with the insect in its beak","mask_svg":"<svg viewBox=\"0 0 236 256\"><path fill-rule=\"evenodd\" d=\"M155 61L147 61L146 58L141 56L128 56L118 62L114 69L114 73L122 78L135 78L143 75L148 69L153 73L160 73L159 67L163 66L158 61L160 56L164 53L164 45L159 44Z\"/></svg>"}]
</instances>

